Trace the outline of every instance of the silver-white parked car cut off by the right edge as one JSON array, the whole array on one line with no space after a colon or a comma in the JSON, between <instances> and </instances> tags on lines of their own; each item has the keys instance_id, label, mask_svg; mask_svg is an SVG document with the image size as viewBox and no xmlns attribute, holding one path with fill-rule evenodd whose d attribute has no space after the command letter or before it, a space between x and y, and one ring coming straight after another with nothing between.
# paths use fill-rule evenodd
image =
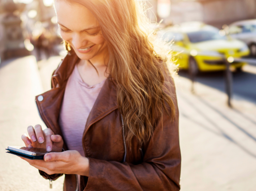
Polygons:
<instances>
[{"instance_id":1,"label":"silver-white parked car cut off by the right edge","mask_svg":"<svg viewBox=\"0 0 256 191\"><path fill-rule=\"evenodd\" d=\"M256 57L256 19L234 22L225 30L231 37L245 42L251 55Z\"/></svg>"}]
</instances>

